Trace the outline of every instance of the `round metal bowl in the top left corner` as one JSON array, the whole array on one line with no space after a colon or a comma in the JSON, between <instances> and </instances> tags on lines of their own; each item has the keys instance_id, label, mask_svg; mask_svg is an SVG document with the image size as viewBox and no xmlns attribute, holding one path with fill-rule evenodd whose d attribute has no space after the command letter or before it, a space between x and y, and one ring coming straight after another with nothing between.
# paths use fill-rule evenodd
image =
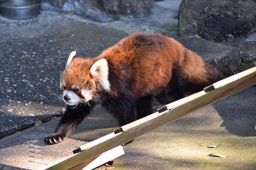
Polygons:
<instances>
[{"instance_id":1,"label":"round metal bowl in the top left corner","mask_svg":"<svg viewBox=\"0 0 256 170\"><path fill-rule=\"evenodd\" d=\"M40 0L4 0L0 1L0 13L9 19L28 19L40 13Z\"/></svg>"}]
</instances>

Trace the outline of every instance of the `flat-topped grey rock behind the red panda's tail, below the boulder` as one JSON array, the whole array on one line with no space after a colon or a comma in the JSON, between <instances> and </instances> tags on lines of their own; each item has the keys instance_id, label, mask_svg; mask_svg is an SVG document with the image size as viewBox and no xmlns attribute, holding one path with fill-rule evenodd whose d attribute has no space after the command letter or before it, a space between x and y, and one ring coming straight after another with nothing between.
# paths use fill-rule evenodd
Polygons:
<instances>
[{"instance_id":1,"label":"flat-topped grey rock behind the red panda's tail, below the boulder","mask_svg":"<svg viewBox=\"0 0 256 170\"><path fill-rule=\"evenodd\" d=\"M193 50L226 76L253 67L256 62L256 42L244 42L239 46L226 46L196 36L178 38L186 48Z\"/></svg>"}]
</instances>

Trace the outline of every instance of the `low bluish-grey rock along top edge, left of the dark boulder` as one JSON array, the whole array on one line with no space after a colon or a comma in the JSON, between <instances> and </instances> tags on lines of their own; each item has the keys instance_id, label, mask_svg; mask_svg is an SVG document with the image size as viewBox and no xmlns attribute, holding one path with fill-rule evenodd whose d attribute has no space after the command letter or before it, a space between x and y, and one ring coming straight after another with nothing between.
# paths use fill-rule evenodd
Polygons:
<instances>
[{"instance_id":1,"label":"low bluish-grey rock along top edge, left of the dark boulder","mask_svg":"<svg viewBox=\"0 0 256 170\"><path fill-rule=\"evenodd\" d=\"M57 6L60 11L73 12L96 21L111 21L126 15L141 16L148 13L153 0L43 0ZM43 5L51 10L51 7Z\"/></svg>"}]
</instances>

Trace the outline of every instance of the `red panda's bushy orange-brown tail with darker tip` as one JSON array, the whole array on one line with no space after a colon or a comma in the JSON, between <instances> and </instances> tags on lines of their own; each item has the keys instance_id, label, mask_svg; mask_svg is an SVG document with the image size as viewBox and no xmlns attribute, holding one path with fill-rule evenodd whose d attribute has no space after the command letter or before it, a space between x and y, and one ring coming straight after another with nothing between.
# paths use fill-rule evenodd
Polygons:
<instances>
[{"instance_id":1,"label":"red panda's bushy orange-brown tail with darker tip","mask_svg":"<svg viewBox=\"0 0 256 170\"><path fill-rule=\"evenodd\" d=\"M225 78L220 71L206 63L198 54L187 48L183 50L183 60L179 61L179 65L184 79L206 87Z\"/></svg>"}]
</instances>

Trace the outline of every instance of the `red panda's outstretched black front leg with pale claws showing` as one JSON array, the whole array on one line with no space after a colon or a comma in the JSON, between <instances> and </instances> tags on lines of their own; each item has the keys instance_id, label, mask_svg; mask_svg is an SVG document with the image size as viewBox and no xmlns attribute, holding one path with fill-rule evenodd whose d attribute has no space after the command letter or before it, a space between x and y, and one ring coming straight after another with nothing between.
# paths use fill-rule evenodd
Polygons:
<instances>
[{"instance_id":1,"label":"red panda's outstretched black front leg with pale claws showing","mask_svg":"<svg viewBox=\"0 0 256 170\"><path fill-rule=\"evenodd\" d=\"M77 126L84 120L84 117L91 112L91 106L87 104L79 104L74 106L67 106L66 110L60 118L59 125L54 133L45 137L45 142L55 144L62 142L68 135L77 128Z\"/></svg>"}]
</instances>

